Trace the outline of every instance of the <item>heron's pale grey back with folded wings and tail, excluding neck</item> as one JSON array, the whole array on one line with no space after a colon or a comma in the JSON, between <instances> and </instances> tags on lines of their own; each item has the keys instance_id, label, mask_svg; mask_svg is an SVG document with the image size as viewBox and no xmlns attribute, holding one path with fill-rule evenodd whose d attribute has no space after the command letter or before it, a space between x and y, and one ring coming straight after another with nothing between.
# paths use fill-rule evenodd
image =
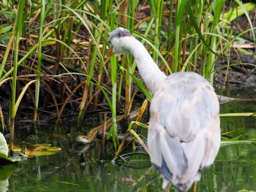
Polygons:
<instances>
[{"instance_id":1,"label":"heron's pale grey back with folded wings and tail, excluding neck","mask_svg":"<svg viewBox=\"0 0 256 192\"><path fill-rule=\"evenodd\" d=\"M164 169L164 162L172 181L189 182L200 167L213 163L219 143L219 101L211 85L195 73L167 77L151 102L152 163Z\"/></svg>"}]
</instances>

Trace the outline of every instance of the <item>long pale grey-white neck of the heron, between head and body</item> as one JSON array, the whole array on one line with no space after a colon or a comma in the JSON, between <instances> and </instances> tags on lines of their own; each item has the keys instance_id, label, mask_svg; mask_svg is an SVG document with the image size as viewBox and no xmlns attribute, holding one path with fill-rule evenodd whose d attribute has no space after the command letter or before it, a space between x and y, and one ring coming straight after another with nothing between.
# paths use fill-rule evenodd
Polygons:
<instances>
[{"instance_id":1,"label":"long pale grey-white neck of the heron, between head and body","mask_svg":"<svg viewBox=\"0 0 256 192\"><path fill-rule=\"evenodd\" d=\"M153 58L151 58L151 55L149 55L148 50L146 50L146 47L140 41L134 37L130 37L129 45L131 45L129 52L135 58L140 76L143 78L149 90L153 94L156 93L167 76L159 69Z\"/></svg>"}]
</instances>

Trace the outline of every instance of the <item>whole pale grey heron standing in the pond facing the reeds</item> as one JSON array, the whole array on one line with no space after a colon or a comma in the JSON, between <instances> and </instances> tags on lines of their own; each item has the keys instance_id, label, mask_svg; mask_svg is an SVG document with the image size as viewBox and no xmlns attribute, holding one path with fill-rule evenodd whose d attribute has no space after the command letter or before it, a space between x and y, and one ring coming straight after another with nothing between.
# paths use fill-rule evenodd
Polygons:
<instances>
[{"instance_id":1,"label":"whole pale grey heron standing in the pond facing the reeds","mask_svg":"<svg viewBox=\"0 0 256 192\"><path fill-rule=\"evenodd\" d=\"M194 72L166 76L143 44L125 28L109 33L115 54L132 54L140 76L154 94L148 127L148 150L162 188L173 183L188 191L211 166L220 146L219 101L211 84Z\"/></svg>"}]
</instances>

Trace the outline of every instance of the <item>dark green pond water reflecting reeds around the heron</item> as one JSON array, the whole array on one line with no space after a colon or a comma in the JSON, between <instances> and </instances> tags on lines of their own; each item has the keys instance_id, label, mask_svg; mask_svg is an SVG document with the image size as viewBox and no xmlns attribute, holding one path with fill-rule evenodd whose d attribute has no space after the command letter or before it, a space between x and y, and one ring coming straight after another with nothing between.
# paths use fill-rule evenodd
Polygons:
<instances>
[{"instance_id":1,"label":"dark green pond water reflecting reeds around the heron","mask_svg":"<svg viewBox=\"0 0 256 192\"><path fill-rule=\"evenodd\" d=\"M221 106L222 113L255 111L254 102L236 101ZM221 127L222 140L238 138L244 142L222 144L214 164L203 170L197 191L256 191L256 142L248 142L256 139L256 118L221 118ZM85 164L81 165L78 150L82 149L75 145L77 134L54 137L64 133L65 127L45 125L34 131L31 126L20 126L16 144L50 143L62 150L55 155L0 166L0 191L161 191L162 178L151 168L142 148L138 147L136 155L111 163L113 154L109 149L113 146L108 143L106 155L110 160L100 163L97 140L83 148ZM129 152L127 148L124 153Z\"/></svg>"}]
</instances>

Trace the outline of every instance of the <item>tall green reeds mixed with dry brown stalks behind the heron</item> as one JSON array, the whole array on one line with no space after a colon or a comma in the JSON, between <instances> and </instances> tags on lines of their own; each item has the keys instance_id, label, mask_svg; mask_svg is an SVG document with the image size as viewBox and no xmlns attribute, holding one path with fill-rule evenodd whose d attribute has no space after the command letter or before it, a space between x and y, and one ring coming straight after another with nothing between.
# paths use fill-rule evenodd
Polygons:
<instances>
[{"instance_id":1,"label":"tall green reeds mixed with dry brown stalks behind the heron","mask_svg":"<svg viewBox=\"0 0 256 192\"><path fill-rule=\"evenodd\" d=\"M212 84L217 59L227 61L227 66L222 67L228 69L234 39L241 37L234 36L233 20L246 15L247 31L255 30L249 18L255 4L236 0L225 3L3 1L0 15L8 17L0 20L0 46L5 51L0 86L6 85L12 91L11 140L20 103L34 114L34 123L39 123L45 112L53 111L58 124L71 110L77 112L74 115L82 125L87 112L97 116L97 111L107 110L112 114L110 134L117 150L116 115L123 112L127 117L132 108L140 107L134 102L136 95L143 93L150 101L151 93L140 80L130 55L123 55L120 62L116 56L105 58L108 32L118 26L127 27L142 40L166 74L194 71ZM139 18L143 5L148 6L148 15ZM254 34L249 40L255 42ZM32 102L26 102L25 95Z\"/></svg>"}]
</instances>

